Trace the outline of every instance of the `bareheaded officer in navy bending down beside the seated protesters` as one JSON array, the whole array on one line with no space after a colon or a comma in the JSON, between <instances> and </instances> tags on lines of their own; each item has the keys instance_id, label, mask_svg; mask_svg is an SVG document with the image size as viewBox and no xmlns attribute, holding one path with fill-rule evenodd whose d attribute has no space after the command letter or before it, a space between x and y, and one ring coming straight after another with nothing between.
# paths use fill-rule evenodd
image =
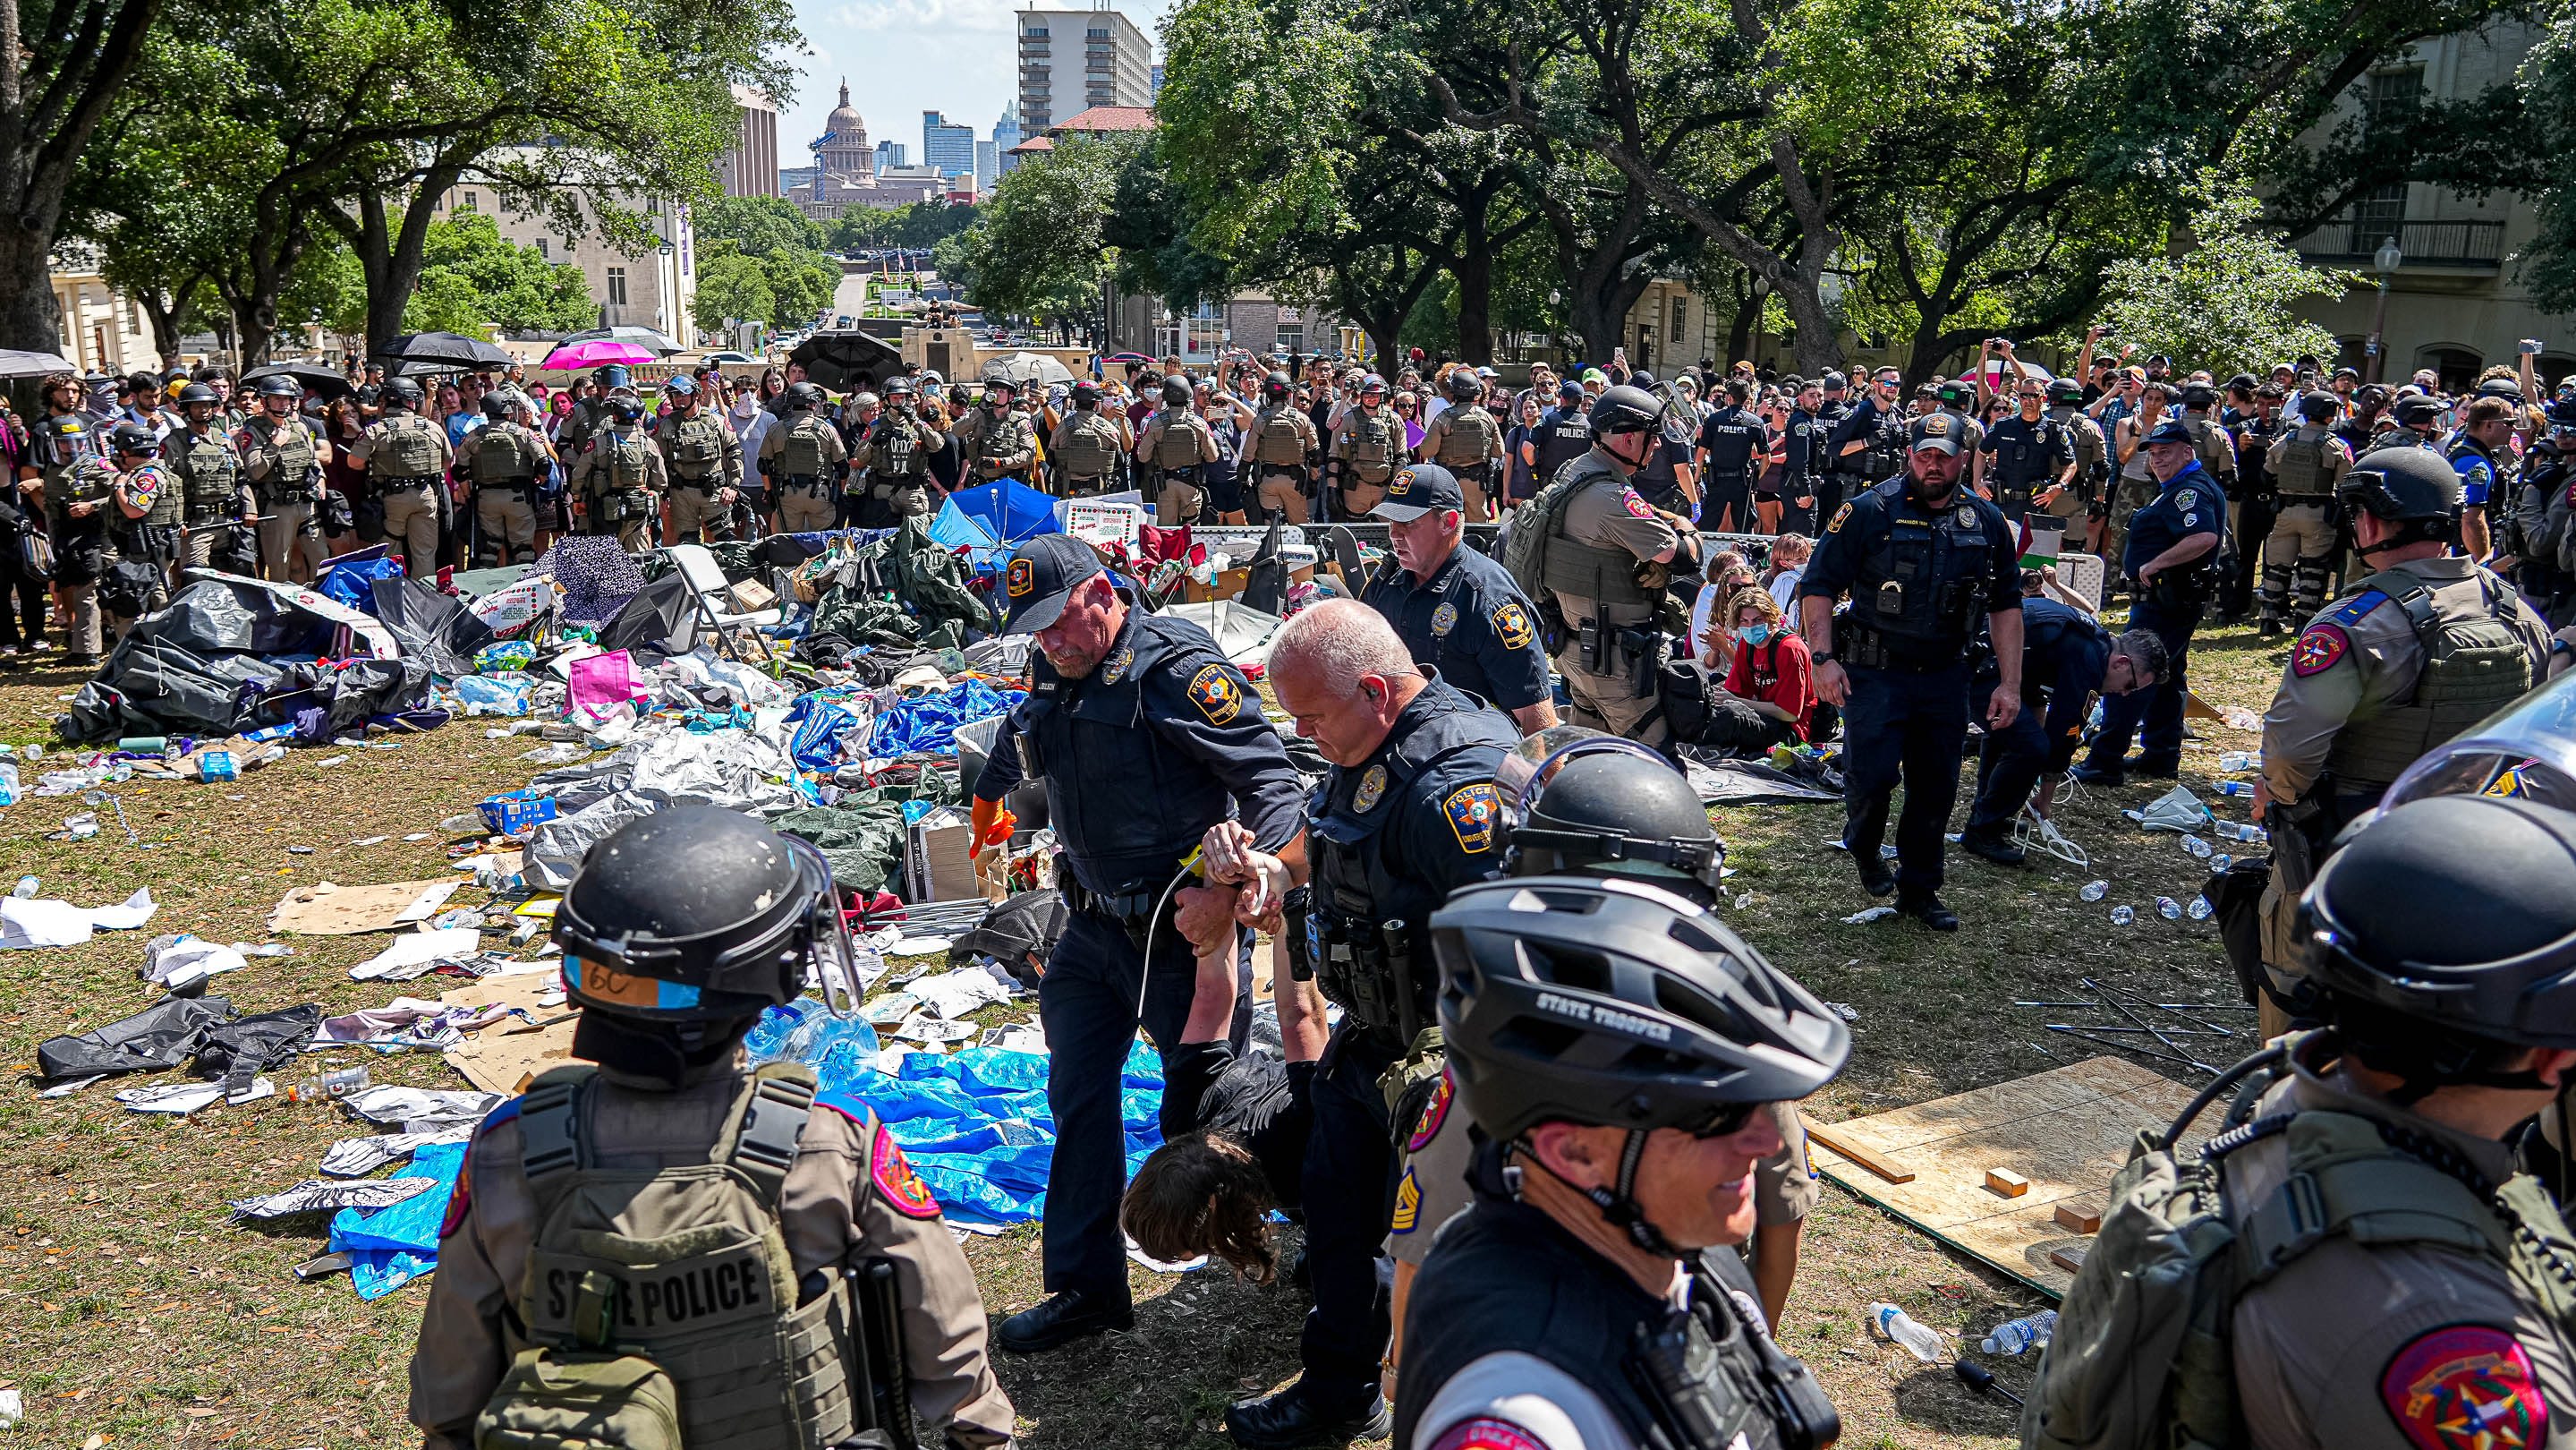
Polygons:
<instances>
[{"instance_id":1,"label":"bareheaded officer in navy bending down beside the seated protesters","mask_svg":"<svg viewBox=\"0 0 2576 1450\"><path fill-rule=\"evenodd\" d=\"M2048 816L2058 775L2084 744L2084 716L2094 690L2117 698L2154 685L2166 670L2164 641L2151 628L2112 639L2102 621L2050 598L2022 600L2022 708L2004 729L1989 729L1976 747L1976 801L1958 847L1996 865L2022 865L2012 822L2038 788L2038 814ZM1971 685L1968 711L1986 713L1999 672L1986 659Z\"/></svg>"}]
</instances>

